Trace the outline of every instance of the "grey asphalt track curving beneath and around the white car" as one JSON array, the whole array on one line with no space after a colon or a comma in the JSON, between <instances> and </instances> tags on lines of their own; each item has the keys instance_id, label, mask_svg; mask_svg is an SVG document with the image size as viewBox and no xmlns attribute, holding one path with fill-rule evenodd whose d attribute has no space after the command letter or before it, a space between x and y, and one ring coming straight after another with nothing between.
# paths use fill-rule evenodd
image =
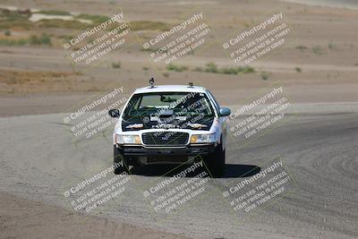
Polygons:
<instances>
[{"instance_id":1,"label":"grey asphalt track curving beneath and around the white car","mask_svg":"<svg viewBox=\"0 0 358 239\"><path fill-rule=\"evenodd\" d=\"M226 175L209 181L207 194L183 209L165 216L153 213L143 189L168 177L158 177L166 167L150 167L146 172L134 169L125 192L93 213L195 238L358 237L358 104L293 108L283 124L254 141L229 139ZM84 146L75 144L64 115L0 118L2 192L71 209L64 192L112 165L111 130ZM243 180L245 174L249 178L277 155L294 179L289 193L255 213L235 213L220 186Z\"/></svg>"}]
</instances>

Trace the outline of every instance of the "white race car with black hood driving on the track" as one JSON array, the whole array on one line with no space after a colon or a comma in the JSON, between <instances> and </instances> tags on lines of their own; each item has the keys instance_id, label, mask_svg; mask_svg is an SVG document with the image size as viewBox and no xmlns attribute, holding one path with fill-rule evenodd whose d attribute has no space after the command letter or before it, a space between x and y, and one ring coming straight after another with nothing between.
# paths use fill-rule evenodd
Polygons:
<instances>
[{"instance_id":1,"label":"white race car with black hood driving on the track","mask_svg":"<svg viewBox=\"0 0 358 239\"><path fill-rule=\"evenodd\" d=\"M192 83L150 83L133 92L122 112L108 112L118 117L113 132L115 174L129 172L129 166L190 164L201 158L211 175L223 175L225 116L230 109Z\"/></svg>"}]
</instances>

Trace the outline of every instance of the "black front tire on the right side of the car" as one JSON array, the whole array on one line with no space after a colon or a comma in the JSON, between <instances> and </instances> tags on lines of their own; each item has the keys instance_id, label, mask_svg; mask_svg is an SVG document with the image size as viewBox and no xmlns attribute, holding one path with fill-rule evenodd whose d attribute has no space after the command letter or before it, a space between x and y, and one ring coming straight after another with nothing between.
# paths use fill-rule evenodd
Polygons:
<instances>
[{"instance_id":1,"label":"black front tire on the right side of the car","mask_svg":"<svg viewBox=\"0 0 358 239\"><path fill-rule=\"evenodd\" d=\"M209 155L207 163L212 176L223 176L225 174L225 155L222 144L219 144L214 153Z\"/></svg>"}]
</instances>

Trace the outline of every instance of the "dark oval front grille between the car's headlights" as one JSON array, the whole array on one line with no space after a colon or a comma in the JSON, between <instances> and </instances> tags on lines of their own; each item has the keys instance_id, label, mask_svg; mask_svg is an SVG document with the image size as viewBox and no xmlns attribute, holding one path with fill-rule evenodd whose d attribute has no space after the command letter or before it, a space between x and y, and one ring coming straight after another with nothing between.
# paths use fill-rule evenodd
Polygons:
<instances>
[{"instance_id":1,"label":"dark oval front grille between the car's headlights","mask_svg":"<svg viewBox=\"0 0 358 239\"><path fill-rule=\"evenodd\" d=\"M144 132L141 139L150 146L183 146L189 140L187 132Z\"/></svg>"}]
</instances>

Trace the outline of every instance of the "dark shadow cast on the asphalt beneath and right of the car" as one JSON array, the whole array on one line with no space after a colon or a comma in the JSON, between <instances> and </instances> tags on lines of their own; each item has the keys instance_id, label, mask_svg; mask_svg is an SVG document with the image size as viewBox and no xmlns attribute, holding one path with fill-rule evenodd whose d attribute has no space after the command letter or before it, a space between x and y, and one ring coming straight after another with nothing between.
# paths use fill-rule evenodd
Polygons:
<instances>
[{"instance_id":1,"label":"dark shadow cast on the asphalt beneath and right of the car","mask_svg":"<svg viewBox=\"0 0 358 239\"><path fill-rule=\"evenodd\" d=\"M132 175L146 175L146 176L174 176L183 172L185 168L190 165L184 166L173 166L173 165L156 165L156 166L134 166L131 169ZM226 164L225 175L220 176L221 178L239 178L239 177L250 177L260 173L260 166L254 165L233 165ZM188 173L186 177L193 177L198 175L198 170Z\"/></svg>"}]
</instances>

